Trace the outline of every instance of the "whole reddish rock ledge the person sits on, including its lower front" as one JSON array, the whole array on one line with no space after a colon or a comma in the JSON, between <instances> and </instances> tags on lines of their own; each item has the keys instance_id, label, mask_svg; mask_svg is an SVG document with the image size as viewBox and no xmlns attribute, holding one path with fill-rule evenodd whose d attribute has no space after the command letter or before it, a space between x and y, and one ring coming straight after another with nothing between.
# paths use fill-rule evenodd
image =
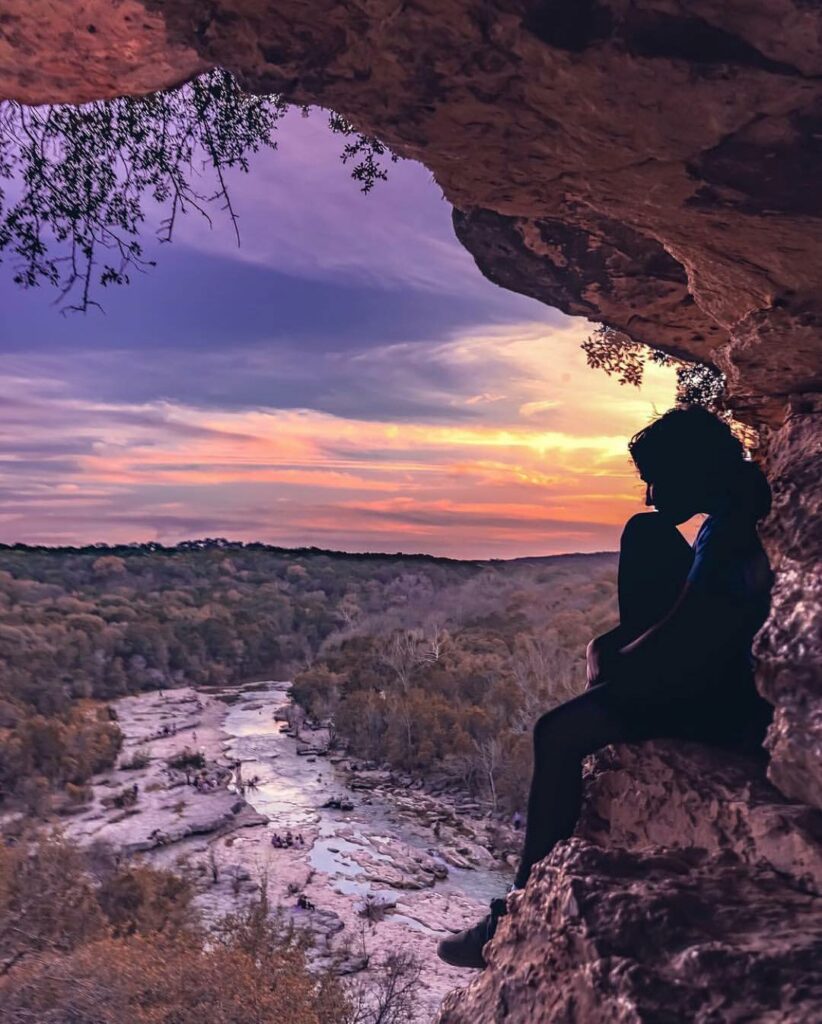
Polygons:
<instances>
[{"instance_id":1,"label":"whole reddish rock ledge the person sits on, including its lower front","mask_svg":"<svg viewBox=\"0 0 822 1024\"><path fill-rule=\"evenodd\" d=\"M578 835L534 868L439 1024L818 1021L822 815L698 743L600 752Z\"/></svg>"}]
</instances>

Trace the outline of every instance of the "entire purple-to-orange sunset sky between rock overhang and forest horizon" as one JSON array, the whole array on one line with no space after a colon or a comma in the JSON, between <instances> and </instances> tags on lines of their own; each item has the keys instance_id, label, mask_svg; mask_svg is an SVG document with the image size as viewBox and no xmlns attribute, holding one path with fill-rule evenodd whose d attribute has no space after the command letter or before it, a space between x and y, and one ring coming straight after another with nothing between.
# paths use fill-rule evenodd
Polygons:
<instances>
[{"instance_id":1,"label":"entire purple-to-orange sunset sky between rock overhang and forest horizon","mask_svg":"<svg viewBox=\"0 0 822 1024\"><path fill-rule=\"evenodd\" d=\"M485 281L425 168L363 197L341 146L289 115L231 179L242 248L186 217L104 314L0 265L0 541L616 546L642 507L625 441L673 371L589 370L591 325Z\"/></svg>"}]
</instances>

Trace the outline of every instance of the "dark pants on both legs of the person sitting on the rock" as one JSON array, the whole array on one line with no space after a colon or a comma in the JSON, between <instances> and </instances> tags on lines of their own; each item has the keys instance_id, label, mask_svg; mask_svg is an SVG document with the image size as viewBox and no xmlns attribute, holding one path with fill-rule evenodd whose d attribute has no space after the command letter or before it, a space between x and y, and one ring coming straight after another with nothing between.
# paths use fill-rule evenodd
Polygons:
<instances>
[{"instance_id":1,"label":"dark pants on both legs of the person sitting on the rock","mask_svg":"<svg viewBox=\"0 0 822 1024\"><path fill-rule=\"evenodd\" d=\"M692 550L679 530L654 512L635 516L619 550L619 622L629 643L659 622L673 607L691 566ZM728 680L718 682L725 686ZM663 701L632 709L601 683L553 709L533 730L533 776L528 798L525 842L515 885L525 885L531 865L542 860L576 824L582 802L582 759L609 743L679 737L711 743L759 746L770 707L750 699L716 701L711 696L674 705ZM730 687L733 690L733 686ZM745 692L742 681L740 692ZM707 687L705 694L716 693ZM755 721L753 721L755 719ZM750 721L746 721L750 720Z\"/></svg>"}]
</instances>

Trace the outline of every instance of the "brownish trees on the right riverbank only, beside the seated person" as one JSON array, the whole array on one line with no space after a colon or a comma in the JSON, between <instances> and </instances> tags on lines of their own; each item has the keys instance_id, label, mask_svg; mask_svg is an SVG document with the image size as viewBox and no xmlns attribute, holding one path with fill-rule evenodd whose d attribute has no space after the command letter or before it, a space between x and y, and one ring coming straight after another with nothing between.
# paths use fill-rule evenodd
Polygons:
<instances>
[{"instance_id":1,"label":"brownish trees on the right riverbank only, beside the seated person","mask_svg":"<svg viewBox=\"0 0 822 1024\"><path fill-rule=\"evenodd\" d=\"M583 689L587 642L616 614L613 556L510 563L352 623L293 692L354 756L512 812L535 720Z\"/></svg>"}]
</instances>

